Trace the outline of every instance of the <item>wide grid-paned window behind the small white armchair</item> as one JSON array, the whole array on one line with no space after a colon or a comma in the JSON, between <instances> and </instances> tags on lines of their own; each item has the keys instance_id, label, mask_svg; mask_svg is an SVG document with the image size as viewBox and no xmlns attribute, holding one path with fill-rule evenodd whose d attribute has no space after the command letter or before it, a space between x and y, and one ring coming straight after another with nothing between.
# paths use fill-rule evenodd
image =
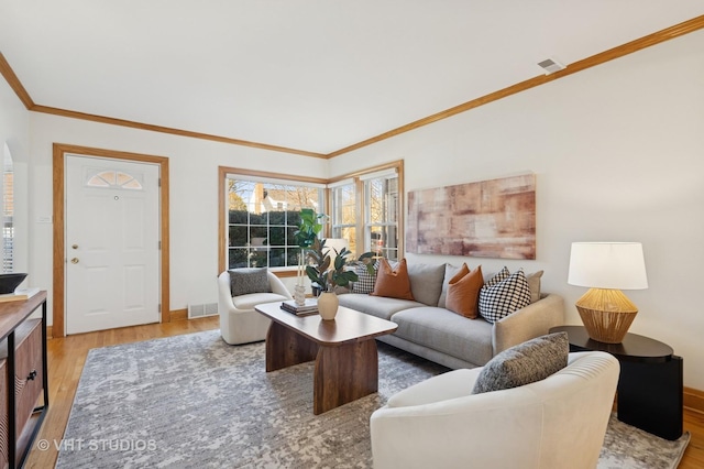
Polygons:
<instances>
[{"instance_id":1,"label":"wide grid-paned window behind the small white armchair","mask_svg":"<svg viewBox=\"0 0 704 469\"><path fill-rule=\"evenodd\" d=\"M300 209L322 211L324 185L230 174L226 183L228 269L297 265Z\"/></svg>"}]
</instances>

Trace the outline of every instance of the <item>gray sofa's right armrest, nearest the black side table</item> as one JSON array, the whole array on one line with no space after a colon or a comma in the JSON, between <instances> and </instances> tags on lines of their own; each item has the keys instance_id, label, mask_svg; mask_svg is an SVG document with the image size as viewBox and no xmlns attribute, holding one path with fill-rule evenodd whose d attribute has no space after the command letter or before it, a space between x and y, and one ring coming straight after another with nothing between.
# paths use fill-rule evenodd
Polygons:
<instances>
[{"instance_id":1,"label":"gray sofa's right armrest, nearest the black side table","mask_svg":"<svg viewBox=\"0 0 704 469\"><path fill-rule=\"evenodd\" d=\"M526 340L544 336L551 327L563 324L564 299L559 295L549 294L494 324L494 355Z\"/></svg>"}]
</instances>

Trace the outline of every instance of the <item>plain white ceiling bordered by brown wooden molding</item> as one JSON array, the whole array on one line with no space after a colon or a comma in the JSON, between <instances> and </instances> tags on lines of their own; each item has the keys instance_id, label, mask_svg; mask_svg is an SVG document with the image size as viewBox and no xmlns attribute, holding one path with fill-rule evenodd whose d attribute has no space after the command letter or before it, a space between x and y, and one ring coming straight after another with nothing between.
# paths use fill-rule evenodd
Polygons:
<instances>
[{"instance_id":1,"label":"plain white ceiling bordered by brown wooden molding","mask_svg":"<svg viewBox=\"0 0 704 469\"><path fill-rule=\"evenodd\" d=\"M701 0L0 0L36 105L329 154L704 14Z\"/></svg>"}]
</instances>

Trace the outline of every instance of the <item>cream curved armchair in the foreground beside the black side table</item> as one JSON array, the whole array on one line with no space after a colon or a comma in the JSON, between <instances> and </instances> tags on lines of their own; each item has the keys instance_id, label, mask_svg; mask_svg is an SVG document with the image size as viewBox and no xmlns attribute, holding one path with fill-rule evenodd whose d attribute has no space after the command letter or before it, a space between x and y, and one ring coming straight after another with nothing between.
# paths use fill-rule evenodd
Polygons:
<instances>
[{"instance_id":1,"label":"cream curved armchair in the foreground beside the black side table","mask_svg":"<svg viewBox=\"0 0 704 469\"><path fill-rule=\"evenodd\" d=\"M604 352L570 353L568 367L542 381L471 394L481 370L433 377L375 411L374 467L596 467L618 360Z\"/></svg>"}]
</instances>

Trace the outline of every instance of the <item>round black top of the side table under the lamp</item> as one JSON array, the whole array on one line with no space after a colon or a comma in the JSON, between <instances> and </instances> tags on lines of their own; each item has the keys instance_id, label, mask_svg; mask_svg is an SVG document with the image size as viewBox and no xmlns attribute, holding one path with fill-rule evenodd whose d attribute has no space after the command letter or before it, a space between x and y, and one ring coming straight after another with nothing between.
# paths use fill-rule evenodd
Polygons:
<instances>
[{"instance_id":1,"label":"round black top of the side table under the lamp","mask_svg":"<svg viewBox=\"0 0 704 469\"><path fill-rule=\"evenodd\" d=\"M578 350L605 351L614 357L640 363L659 363L672 359L672 347L649 337L637 334L626 334L620 343L605 343L590 338L584 326L558 326L550 329L550 334L565 331L570 337L570 346Z\"/></svg>"}]
</instances>

